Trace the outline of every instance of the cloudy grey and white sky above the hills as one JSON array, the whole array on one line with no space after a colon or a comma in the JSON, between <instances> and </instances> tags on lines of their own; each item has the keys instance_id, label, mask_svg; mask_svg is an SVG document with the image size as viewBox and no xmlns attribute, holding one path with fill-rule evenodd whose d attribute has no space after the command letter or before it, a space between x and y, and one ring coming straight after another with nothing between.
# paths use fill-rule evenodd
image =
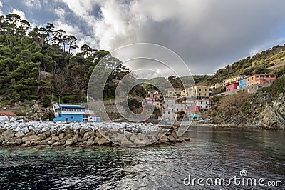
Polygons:
<instances>
[{"instance_id":1,"label":"cloudy grey and white sky above the hills","mask_svg":"<svg viewBox=\"0 0 285 190\"><path fill-rule=\"evenodd\" d=\"M192 74L285 43L284 0L0 0L33 26L53 23L78 45L113 51L149 42L175 51ZM179 69L179 68L178 68Z\"/></svg>"}]
</instances>

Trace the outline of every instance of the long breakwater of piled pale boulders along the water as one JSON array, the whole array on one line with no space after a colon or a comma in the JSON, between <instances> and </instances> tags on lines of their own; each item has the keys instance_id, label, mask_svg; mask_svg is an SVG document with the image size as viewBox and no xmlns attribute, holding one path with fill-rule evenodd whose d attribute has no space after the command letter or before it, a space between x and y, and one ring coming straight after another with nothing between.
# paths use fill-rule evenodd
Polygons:
<instances>
[{"instance_id":1,"label":"long breakwater of piled pale boulders along the water","mask_svg":"<svg viewBox=\"0 0 285 190\"><path fill-rule=\"evenodd\" d=\"M185 141L177 137L177 130L150 124L6 121L0 123L0 145L134 147Z\"/></svg>"}]
</instances>

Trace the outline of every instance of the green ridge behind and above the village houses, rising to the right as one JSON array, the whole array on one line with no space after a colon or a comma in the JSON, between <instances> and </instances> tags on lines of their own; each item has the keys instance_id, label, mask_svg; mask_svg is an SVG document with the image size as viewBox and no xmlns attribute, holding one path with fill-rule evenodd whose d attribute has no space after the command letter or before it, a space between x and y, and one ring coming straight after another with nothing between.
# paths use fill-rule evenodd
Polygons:
<instances>
[{"instance_id":1,"label":"green ridge behind and above the village houses, rising to the right","mask_svg":"<svg viewBox=\"0 0 285 190\"><path fill-rule=\"evenodd\" d=\"M222 83L224 79L238 75L252 74L276 74L277 77L285 74L285 45L274 46L266 51L261 51L252 57L247 57L217 70L214 75L193 75L182 76L180 79L170 76L167 79L155 78L151 82L165 86L166 81L170 81L174 88L182 88L182 81L192 81L196 84L211 85Z\"/></svg>"}]
</instances>

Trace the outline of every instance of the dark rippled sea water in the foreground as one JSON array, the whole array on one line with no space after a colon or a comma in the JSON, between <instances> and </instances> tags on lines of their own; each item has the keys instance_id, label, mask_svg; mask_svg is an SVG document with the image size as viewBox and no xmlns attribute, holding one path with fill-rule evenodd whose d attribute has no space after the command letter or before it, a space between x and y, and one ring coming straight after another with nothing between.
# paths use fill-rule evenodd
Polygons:
<instances>
[{"instance_id":1,"label":"dark rippled sea water in the foreground","mask_svg":"<svg viewBox=\"0 0 285 190\"><path fill-rule=\"evenodd\" d=\"M239 176L282 181L285 131L193 128L191 141L140 149L0 148L1 189L270 189L185 186L183 179Z\"/></svg>"}]
</instances>

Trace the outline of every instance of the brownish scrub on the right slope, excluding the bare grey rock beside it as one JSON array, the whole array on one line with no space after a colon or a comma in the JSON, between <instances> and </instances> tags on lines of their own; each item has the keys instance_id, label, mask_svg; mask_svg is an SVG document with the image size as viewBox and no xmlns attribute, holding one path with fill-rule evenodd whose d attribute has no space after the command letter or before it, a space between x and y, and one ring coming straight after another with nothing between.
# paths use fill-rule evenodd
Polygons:
<instances>
[{"instance_id":1,"label":"brownish scrub on the right slope, excluding the bare grey rock beside it","mask_svg":"<svg viewBox=\"0 0 285 190\"><path fill-rule=\"evenodd\" d=\"M212 117L217 124L252 124L266 105L271 105L281 94L285 94L285 75L252 95L243 91L221 97L212 111Z\"/></svg>"}]
</instances>

